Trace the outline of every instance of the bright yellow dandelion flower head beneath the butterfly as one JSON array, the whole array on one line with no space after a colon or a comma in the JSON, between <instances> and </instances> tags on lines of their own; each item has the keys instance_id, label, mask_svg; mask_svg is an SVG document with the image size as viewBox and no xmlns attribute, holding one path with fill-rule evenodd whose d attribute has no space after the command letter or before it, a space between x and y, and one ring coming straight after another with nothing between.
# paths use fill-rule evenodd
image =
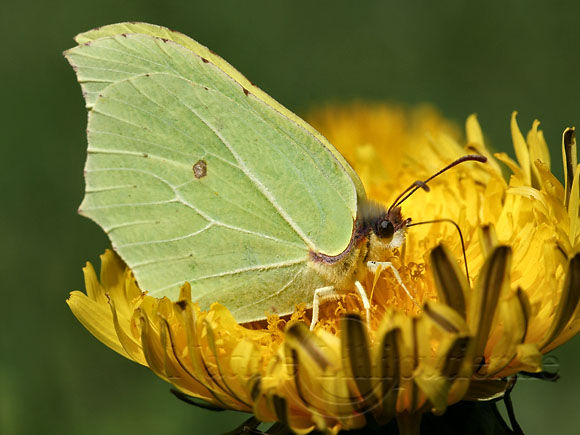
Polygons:
<instances>
[{"instance_id":1,"label":"bright yellow dandelion flower head beneath the butterfly","mask_svg":"<svg viewBox=\"0 0 580 435\"><path fill-rule=\"evenodd\" d=\"M121 355L148 366L181 393L217 407L281 421L297 433L362 427L369 416L416 428L423 412L487 399L510 376L542 370L542 354L580 329L579 170L574 131L563 136L565 185L550 172L535 122L524 139L512 117L518 162L487 150L475 116L467 140L429 108L329 107L310 116L353 165L369 197L389 204L411 182L466 153L464 164L403 206L414 222L392 261L421 308L389 271L369 275L370 327L355 292L290 318L238 325L227 308L201 311L188 284L179 301L143 293L112 251L100 279L84 269L86 294L68 304L79 321ZM500 162L511 171L509 181Z\"/></svg>"}]
</instances>

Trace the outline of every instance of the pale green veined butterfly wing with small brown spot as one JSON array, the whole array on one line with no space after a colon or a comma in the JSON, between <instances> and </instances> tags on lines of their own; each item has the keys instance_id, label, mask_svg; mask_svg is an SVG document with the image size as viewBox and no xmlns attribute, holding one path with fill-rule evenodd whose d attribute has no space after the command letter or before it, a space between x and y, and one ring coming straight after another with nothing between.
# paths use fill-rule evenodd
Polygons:
<instances>
[{"instance_id":1,"label":"pale green veined butterfly wing with small brown spot","mask_svg":"<svg viewBox=\"0 0 580 435\"><path fill-rule=\"evenodd\" d=\"M309 302L323 283L308 252L342 252L356 216L333 152L173 41L114 35L66 55L90 108L81 210L140 285L175 299L188 281L239 321Z\"/></svg>"}]
</instances>

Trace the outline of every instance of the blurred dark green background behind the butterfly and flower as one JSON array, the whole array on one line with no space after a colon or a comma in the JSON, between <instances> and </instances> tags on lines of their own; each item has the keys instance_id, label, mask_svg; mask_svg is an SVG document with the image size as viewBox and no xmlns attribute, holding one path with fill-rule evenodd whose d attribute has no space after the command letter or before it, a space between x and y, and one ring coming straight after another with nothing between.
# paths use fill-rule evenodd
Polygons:
<instances>
[{"instance_id":1,"label":"blurred dark green background behind the butterfly and flower","mask_svg":"<svg viewBox=\"0 0 580 435\"><path fill-rule=\"evenodd\" d=\"M403 4L405 3L405 4ZM76 214L86 113L61 52L90 28L142 20L182 31L300 113L351 99L477 112L509 150L508 119L534 117L560 162L580 121L578 2L98 0L5 2L0 10L0 433L202 434L245 415L194 409L74 319L68 292L108 246ZM559 173L561 170L559 164ZM578 433L580 337L553 352L562 379L520 382L530 434Z\"/></svg>"}]
</instances>

